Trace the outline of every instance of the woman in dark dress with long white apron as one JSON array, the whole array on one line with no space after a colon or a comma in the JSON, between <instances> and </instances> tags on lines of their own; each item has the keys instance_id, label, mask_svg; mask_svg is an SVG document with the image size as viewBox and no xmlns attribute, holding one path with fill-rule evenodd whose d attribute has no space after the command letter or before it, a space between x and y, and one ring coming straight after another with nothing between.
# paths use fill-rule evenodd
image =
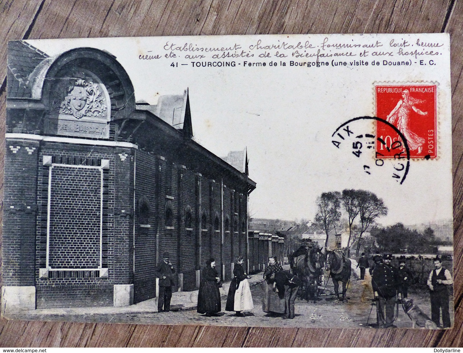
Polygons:
<instances>
[{"instance_id":1,"label":"woman in dark dress with long white apron","mask_svg":"<svg viewBox=\"0 0 463 353\"><path fill-rule=\"evenodd\" d=\"M244 317L244 310L254 309L251 290L246 272L243 268L244 258L239 256L233 268L233 279L228 290L226 311L236 311L235 316Z\"/></svg>"}]
</instances>

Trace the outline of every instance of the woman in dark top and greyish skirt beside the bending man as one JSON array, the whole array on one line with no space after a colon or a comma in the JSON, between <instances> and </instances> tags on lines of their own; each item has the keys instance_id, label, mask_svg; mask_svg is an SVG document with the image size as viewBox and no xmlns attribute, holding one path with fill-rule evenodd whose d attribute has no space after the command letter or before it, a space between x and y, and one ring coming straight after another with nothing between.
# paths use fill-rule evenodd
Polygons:
<instances>
[{"instance_id":1,"label":"woman in dark top and greyish skirt beside the bending man","mask_svg":"<svg viewBox=\"0 0 463 353\"><path fill-rule=\"evenodd\" d=\"M280 298L275 293L275 272L283 271L282 266L277 264L276 257L269 258L269 267L263 274L263 290L264 296L262 298L262 311L269 313L269 315L280 315L286 313L285 298Z\"/></svg>"}]
</instances>

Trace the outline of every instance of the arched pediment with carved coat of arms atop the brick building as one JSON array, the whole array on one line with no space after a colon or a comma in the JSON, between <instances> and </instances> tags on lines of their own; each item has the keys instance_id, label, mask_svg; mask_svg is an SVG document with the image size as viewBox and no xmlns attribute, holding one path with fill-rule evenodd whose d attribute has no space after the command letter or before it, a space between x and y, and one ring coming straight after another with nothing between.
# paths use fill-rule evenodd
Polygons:
<instances>
[{"instance_id":1,"label":"arched pediment with carved coat of arms atop the brick building","mask_svg":"<svg viewBox=\"0 0 463 353\"><path fill-rule=\"evenodd\" d=\"M31 79L31 97L46 109L45 134L108 139L109 122L135 110L127 72L103 50L75 48L47 58Z\"/></svg>"}]
</instances>

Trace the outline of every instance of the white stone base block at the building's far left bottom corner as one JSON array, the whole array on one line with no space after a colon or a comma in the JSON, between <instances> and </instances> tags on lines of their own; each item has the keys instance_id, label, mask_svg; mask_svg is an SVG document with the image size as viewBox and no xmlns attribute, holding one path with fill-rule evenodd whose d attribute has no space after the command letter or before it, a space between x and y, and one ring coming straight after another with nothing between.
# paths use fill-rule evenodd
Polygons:
<instances>
[{"instance_id":1,"label":"white stone base block at the building's far left bottom corner","mask_svg":"<svg viewBox=\"0 0 463 353\"><path fill-rule=\"evenodd\" d=\"M1 313L35 309L34 286L1 287Z\"/></svg>"}]
</instances>

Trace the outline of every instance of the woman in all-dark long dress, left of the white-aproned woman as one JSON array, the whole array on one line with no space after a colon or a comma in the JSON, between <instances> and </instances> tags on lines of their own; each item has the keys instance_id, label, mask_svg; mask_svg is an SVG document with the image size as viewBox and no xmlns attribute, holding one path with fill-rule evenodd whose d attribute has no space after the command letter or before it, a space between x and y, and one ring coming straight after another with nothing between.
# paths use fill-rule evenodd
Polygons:
<instances>
[{"instance_id":1,"label":"woman in all-dark long dress, left of the white-aproned woman","mask_svg":"<svg viewBox=\"0 0 463 353\"><path fill-rule=\"evenodd\" d=\"M200 290L198 293L198 309L200 314L206 316L219 316L220 311L220 277L215 270L215 261L210 258L206 261L206 267L201 278Z\"/></svg>"}]
</instances>

